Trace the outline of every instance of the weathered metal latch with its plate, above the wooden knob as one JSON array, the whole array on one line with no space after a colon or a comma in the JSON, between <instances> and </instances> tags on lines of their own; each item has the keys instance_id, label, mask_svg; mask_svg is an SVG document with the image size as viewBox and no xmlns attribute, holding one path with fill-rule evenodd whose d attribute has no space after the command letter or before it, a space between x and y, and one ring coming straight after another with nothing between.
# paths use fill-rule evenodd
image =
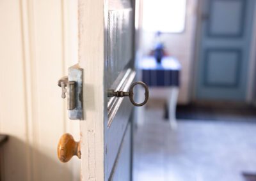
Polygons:
<instances>
[{"instance_id":1,"label":"weathered metal latch with its plate, above the wooden knob","mask_svg":"<svg viewBox=\"0 0 256 181\"><path fill-rule=\"evenodd\" d=\"M63 76L58 85L61 87L61 98L66 98L70 119L83 119L83 69L77 64L68 68L68 76Z\"/></svg>"}]
</instances>

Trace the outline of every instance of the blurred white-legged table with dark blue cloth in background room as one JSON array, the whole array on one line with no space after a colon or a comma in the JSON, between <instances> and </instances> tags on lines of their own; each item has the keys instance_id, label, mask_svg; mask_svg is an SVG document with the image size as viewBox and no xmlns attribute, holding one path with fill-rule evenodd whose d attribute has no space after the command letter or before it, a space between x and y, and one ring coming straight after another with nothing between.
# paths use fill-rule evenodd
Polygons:
<instances>
[{"instance_id":1,"label":"blurred white-legged table with dark blue cloth in background room","mask_svg":"<svg viewBox=\"0 0 256 181\"><path fill-rule=\"evenodd\" d=\"M142 81L148 85L151 95L154 95L154 97L157 96L156 94L159 94L159 97L166 96L168 118L171 127L177 127L175 112L179 95L179 75L181 69L178 59L175 57L163 57L161 64L158 64L152 56L143 57L138 62L138 69L141 70ZM167 90L167 95L162 94L162 88ZM144 92L139 90L139 94L142 95ZM139 98L141 97L143 96L139 96ZM144 122L143 112L144 110L141 108L138 113L140 117L138 124L143 124Z\"/></svg>"}]
</instances>

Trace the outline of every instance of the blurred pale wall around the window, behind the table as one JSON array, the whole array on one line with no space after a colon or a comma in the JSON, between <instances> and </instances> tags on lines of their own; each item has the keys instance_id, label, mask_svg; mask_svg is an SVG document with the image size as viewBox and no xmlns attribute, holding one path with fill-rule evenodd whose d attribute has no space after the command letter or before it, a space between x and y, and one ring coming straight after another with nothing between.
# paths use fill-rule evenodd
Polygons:
<instances>
[{"instance_id":1,"label":"blurred pale wall around the window, behind the table","mask_svg":"<svg viewBox=\"0 0 256 181\"><path fill-rule=\"evenodd\" d=\"M191 84L193 82L192 69L195 52L197 2L197 0L187 0L186 27L183 33L164 33L161 35L168 54L177 57L182 66L178 99L179 104L189 103L193 91L193 85ZM140 34L140 53L147 55L152 49L154 33L144 31Z\"/></svg>"}]
</instances>

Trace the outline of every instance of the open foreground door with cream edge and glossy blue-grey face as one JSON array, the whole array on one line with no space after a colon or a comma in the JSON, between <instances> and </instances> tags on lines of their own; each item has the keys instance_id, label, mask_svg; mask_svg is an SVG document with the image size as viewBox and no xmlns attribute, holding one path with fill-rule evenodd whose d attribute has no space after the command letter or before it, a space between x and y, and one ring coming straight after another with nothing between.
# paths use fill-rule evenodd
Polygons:
<instances>
[{"instance_id":1,"label":"open foreground door with cream edge and glossy blue-grey face","mask_svg":"<svg viewBox=\"0 0 256 181\"><path fill-rule=\"evenodd\" d=\"M82 180L131 180L134 80L134 2L79 0L79 65L84 69L81 131Z\"/></svg>"}]
</instances>

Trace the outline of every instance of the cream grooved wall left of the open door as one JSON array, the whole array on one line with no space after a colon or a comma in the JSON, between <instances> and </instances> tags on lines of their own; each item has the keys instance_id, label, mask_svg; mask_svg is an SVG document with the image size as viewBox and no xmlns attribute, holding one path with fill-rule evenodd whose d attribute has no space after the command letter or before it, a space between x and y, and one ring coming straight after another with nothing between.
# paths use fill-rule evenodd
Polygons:
<instances>
[{"instance_id":1,"label":"cream grooved wall left of the open door","mask_svg":"<svg viewBox=\"0 0 256 181\"><path fill-rule=\"evenodd\" d=\"M77 62L76 1L2 0L0 23L0 180L80 180L79 160L57 157L63 133L79 139L57 86Z\"/></svg>"}]
</instances>

